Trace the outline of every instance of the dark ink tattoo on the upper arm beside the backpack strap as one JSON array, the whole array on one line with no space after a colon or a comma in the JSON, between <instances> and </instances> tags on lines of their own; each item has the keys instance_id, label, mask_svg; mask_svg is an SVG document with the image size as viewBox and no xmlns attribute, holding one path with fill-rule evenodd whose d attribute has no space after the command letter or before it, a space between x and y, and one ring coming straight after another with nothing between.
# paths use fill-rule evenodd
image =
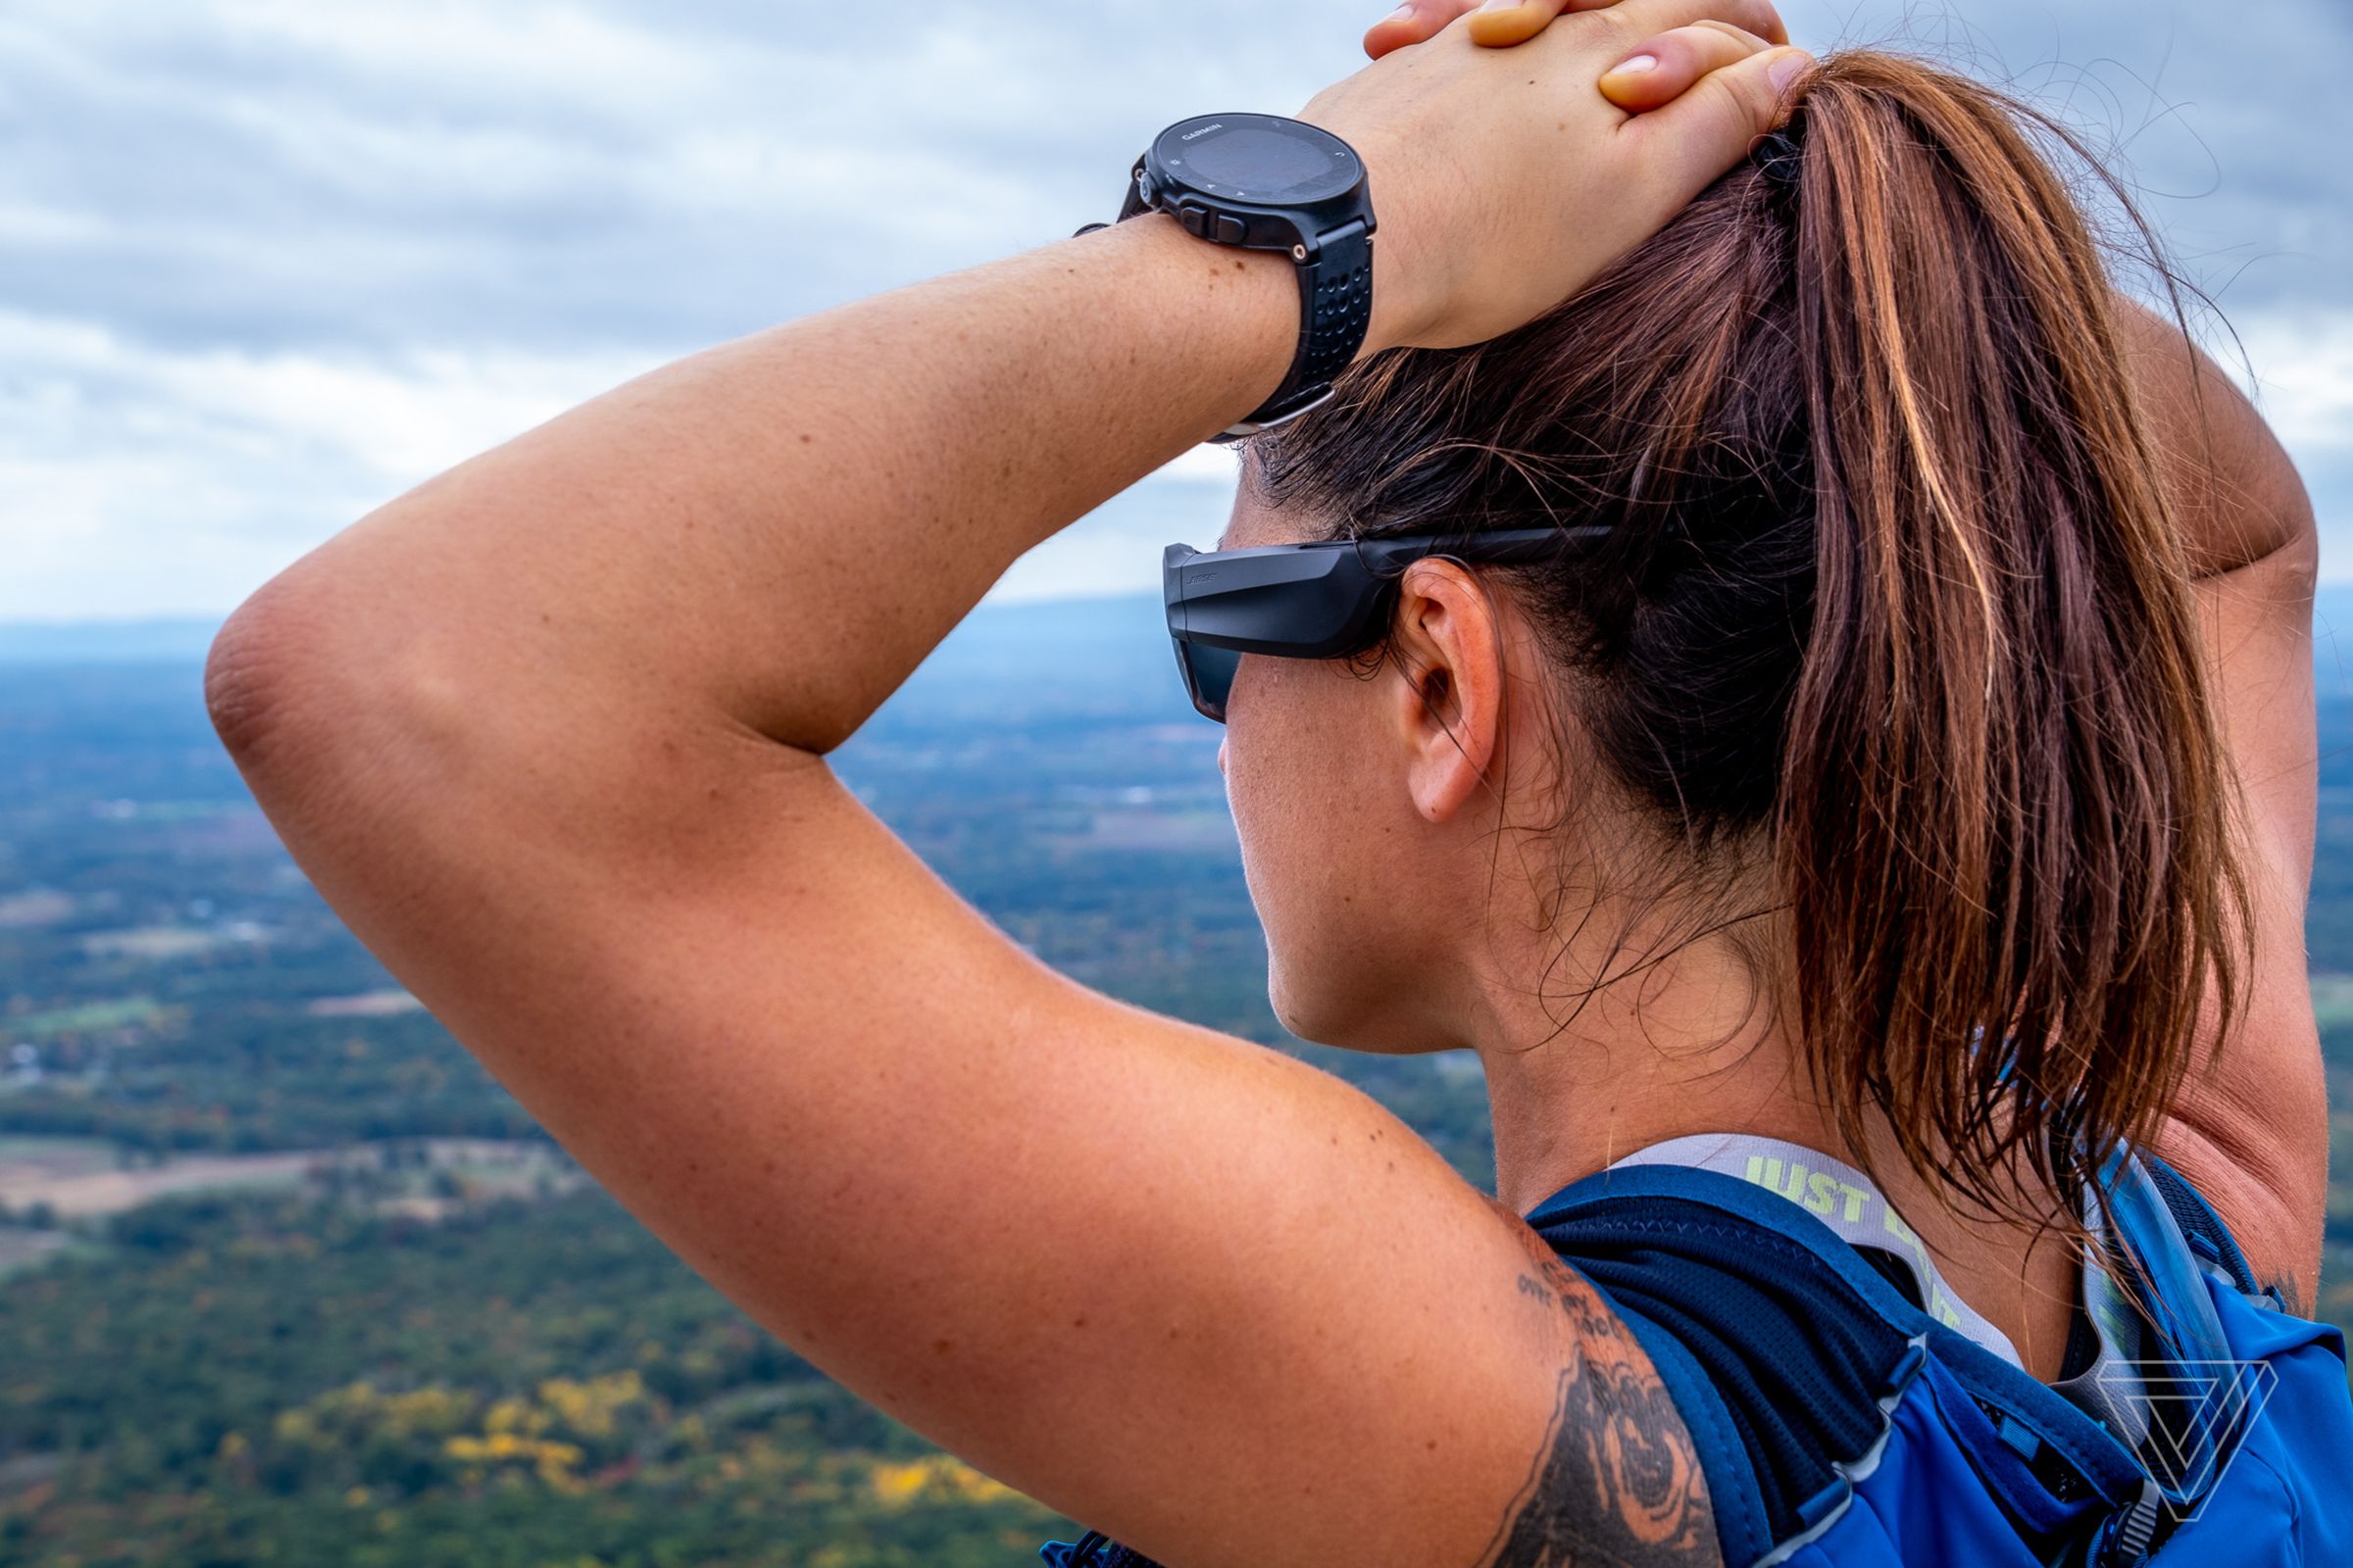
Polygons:
<instances>
[{"instance_id":1,"label":"dark ink tattoo on the upper arm beside the backpack strap","mask_svg":"<svg viewBox=\"0 0 2353 1568\"><path fill-rule=\"evenodd\" d=\"M1560 1312L1553 1420L1480 1568L1720 1563L1708 1481L1659 1371L1600 1293L1499 1199L1527 1246L1520 1293Z\"/></svg>"}]
</instances>

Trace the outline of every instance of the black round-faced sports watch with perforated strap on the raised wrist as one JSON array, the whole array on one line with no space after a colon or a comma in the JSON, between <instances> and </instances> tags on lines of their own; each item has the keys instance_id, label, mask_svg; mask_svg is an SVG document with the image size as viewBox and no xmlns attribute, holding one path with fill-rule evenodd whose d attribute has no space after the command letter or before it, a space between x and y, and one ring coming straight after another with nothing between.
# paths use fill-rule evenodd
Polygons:
<instances>
[{"instance_id":1,"label":"black round-faced sports watch with perforated strap on the raised wrist","mask_svg":"<svg viewBox=\"0 0 2353 1568\"><path fill-rule=\"evenodd\" d=\"M1136 160L1120 219L1172 212L1212 244L1289 252L1299 263L1299 353L1273 397L1212 435L1238 442L1306 414L1372 324L1372 193L1346 141L1282 115L1193 115ZM1078 233L1111 228L1087 223Z\"/></svg>"}]
</instances>

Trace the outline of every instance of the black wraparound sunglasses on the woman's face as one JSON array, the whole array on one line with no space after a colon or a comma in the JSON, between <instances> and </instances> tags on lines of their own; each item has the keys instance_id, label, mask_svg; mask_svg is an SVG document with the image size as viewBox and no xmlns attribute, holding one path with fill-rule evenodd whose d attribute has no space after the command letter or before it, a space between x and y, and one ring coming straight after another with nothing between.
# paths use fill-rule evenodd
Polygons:
<instances>
[{"instance_id":1,"label":"black wraparound sunglasses on the woman's face","mask_svg":"<svg viewBox=\"0 0 2353 1568\"><path fill-rule=\"evenodd\" d=\"M1160 595L1169 642L1193 708L1226 722L1226 693L1242 654L1275 658L1346 658L1362 654L1388 625L1388 604L1405 567L1426 555L1461 562L1544 559L1562 543L1600 538L1607 524L1565 529L1492 529L1487 534L1414 534L1405 538L1325 538L1306 545L1160 552Z\"/></svg>"}]
</instances>

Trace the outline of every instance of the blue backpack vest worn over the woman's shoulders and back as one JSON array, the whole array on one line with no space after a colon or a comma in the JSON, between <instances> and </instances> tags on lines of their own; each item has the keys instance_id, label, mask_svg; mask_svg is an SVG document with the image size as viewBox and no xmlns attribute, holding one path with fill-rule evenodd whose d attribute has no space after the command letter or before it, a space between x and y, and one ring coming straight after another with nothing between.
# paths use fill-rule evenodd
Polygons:
<instances>
[{"instance_id":1,"label":"blue backpack vest worn over the woman's shoulders and back","mask_svg":"<svg viewBox=\"0 0 2353 1568\"><path fill-rule=\"evenodd\" d=\"M2097 1354L2059 1385L1786 1187L1631 1164L1527 1222L1657 1366L1727 1568L2353 1566L2344 1335L2285 1312L2153 1154L2120 1150L2085 1218L2113 1267L2085 1272ZM1092 1530L1040 1556L1155 1568Z\"/></svg>"}]
</instances>

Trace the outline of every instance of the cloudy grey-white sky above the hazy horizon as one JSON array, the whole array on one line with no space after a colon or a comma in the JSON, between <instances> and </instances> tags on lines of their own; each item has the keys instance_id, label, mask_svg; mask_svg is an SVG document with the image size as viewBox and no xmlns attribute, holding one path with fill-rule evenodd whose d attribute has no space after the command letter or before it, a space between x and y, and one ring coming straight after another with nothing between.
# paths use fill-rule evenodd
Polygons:
<instances>
[{"instance_id":1,"label":"cloudy grey-white sky above the hazy horizon","mask_svg":"<svg viewBox=\"0 0 2353 1568\"><path fill-rule=\"evenodd\" d=\"M1384 0L7 0L0 618L219 614L626 376L1108 219L1169 120L1294 113ZM2353 578L2346 0L1784 0L2059 108L2221 303ZM1000 599L1207 545L1202 447Z\"/></svg>"}]
</instances>

